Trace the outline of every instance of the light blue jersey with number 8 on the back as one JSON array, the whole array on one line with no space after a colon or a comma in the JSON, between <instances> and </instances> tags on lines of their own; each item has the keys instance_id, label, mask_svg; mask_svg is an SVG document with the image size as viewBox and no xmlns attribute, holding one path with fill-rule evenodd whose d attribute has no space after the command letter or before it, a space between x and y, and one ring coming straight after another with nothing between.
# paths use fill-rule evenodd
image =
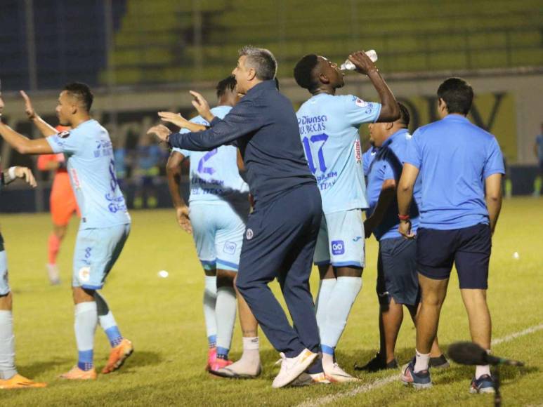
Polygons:
<instances>
[{"instance_id":1,"label":"light blue jersey with number 8 on the back","mask_svg":"<svg viewBox=\"0 0 543 407\"><path fill-rule=\"evenodd\" d=\"M80 229L130 223L115 175L110 135L98 121L84 121L46 140L53 152L66 156L70 182L81 210Z\"/></svg>"}]
</instances>

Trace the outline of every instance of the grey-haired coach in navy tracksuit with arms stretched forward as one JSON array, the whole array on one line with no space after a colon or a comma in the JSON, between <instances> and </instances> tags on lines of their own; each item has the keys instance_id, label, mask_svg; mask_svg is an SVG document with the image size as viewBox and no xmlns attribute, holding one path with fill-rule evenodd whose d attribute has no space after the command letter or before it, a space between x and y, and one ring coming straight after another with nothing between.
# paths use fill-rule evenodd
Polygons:
<instances>
[{"instance_id":1,"label":"grey-haired coach in navy tracksuit with arms stretched forward","mask_svg":"<svg viewBox=\"0 0 543 407\"><path fill-rule=\"evenodd\" d=\"M193 105L211 124L206 131L169 135L174 147L209 150L234 144L240 148L247 182L254 196L242 246L237 288L249 304L272 345L284 352L280 374L273 382L282 387L310 366L320 339L309 276L322 215L320 193L310 173L300 141L298 121L290 100L277 91L277 62L272 53L245 47L233 74L244 98L220 120L209 112L197 93ZM167 140L165 128L152 128ZM186 127L192 130L190 124ZM294 321L268 288L277 277ZM311 368L322 371L320 361Z\"/></svg>"}]
</instances>

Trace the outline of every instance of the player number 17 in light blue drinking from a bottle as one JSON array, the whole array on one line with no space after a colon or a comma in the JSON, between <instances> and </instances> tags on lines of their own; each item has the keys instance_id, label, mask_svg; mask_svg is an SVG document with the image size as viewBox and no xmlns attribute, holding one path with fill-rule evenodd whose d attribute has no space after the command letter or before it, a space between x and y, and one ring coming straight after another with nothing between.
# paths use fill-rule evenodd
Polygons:
<instances>
[{"instance_id":1,"label":"player number 17 in light blue drinking from a bottle","mask_svg":"<svg viewBox=\"0 0 543 407\"><path fill-rule=\"evenodd\" d=\"M296 116L324 213L314 258L320 272L316 312L322 366L329 378L340 382L355 380L338 366L334 349L362 288L365 265L362 211L368 205L358 128L374 121L394 121L400 115L394 95L367 55L358 51L349 60L372 81L381 103L336 95L336 89L344 86L344 74L322 56L306 55L294 68L296 82L313 95Z\"/></svg>"}]
</instances>

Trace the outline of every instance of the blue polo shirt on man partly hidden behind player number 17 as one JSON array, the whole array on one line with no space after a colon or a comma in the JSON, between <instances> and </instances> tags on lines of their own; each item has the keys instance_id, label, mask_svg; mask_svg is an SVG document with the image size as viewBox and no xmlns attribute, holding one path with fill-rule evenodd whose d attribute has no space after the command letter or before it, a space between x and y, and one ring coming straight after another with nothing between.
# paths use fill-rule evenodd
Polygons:
<instances>
[{"instance_id":1,"label":"blue polo shirt on man partly hidden behind player number 17","mask_svg":"<svg viewBox=\"0 0 543 407\"><path fill-rule=\"evenodd\" d=\"M379 201L379 195L386 180L400 180L403 161L407 154L408 143L412 136L407 128L391 135L374 154L367 173L367 198L369 200L368 215L372 214ZM419 227L419 204L421 199L421 178L417 178L413 188L414 202L410 208L411 229L417 232ZM398 232L398 199L394 198L388 206L382 222L374 229L373 234L379 241L400 237Z\"/></svg>"}]
</instances>

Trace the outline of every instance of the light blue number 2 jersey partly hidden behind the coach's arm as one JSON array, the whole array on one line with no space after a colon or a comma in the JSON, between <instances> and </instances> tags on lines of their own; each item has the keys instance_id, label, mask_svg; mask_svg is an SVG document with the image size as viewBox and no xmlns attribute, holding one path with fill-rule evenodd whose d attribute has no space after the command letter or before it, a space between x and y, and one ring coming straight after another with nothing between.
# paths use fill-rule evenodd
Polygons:
<instances>
[{"instance_id":1,"label":"light blue number 2 jersey partly hidden behind the coach's arm","mask_svg":"<svg viewBox=\"0 0 543 407\"><path fill-rule=\"evenodd\" d=\"M217 106L211 113L223 119L232 107ZM191 119L193 123L209 126L202 116ZM181 133L189 133L183 129ZM221 204L223 202L247 204L249 186L240 177L237 168L237 147L223 145L209 152L188 151L174 148L190 158L189 203Z\"/></svg>"}]
</instances>

